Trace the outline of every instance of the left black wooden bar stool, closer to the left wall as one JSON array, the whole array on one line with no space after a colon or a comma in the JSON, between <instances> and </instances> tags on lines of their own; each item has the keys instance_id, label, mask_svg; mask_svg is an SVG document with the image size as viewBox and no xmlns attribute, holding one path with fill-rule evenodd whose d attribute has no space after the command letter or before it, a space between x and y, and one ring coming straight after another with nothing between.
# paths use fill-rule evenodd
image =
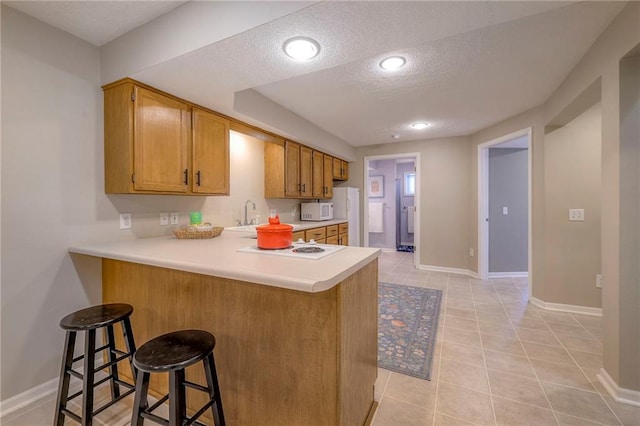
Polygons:
<instances>
[{"instance_id":1,"label":"left black wooden bar stool, closer to the left wall","mask_svg":"<svg viewBox=\"0 0 640 426\"><path fill-rule=\"evenodd\" d=\"M131 331L131 322L129 317L133 312L133 307L124 303L113 303L107 305L97 305L90 308L81 309L72 314L67 315L60 321L60 327L67 330L64 355L62 357L62 370L60 372L60 383L58 385L58 399L56 402L56 415L54 424L57 426L64 425L64 419L70 417L84 425L91 425L93 416L101 413L103 410L112 406L122 398L132 394L135 386L120 380L118 375L118 363L125 359L129 359L131 373L135 379L136 370L133 366L133 354L136 351L136 345L133 340ZM121 323L124 334L124 341L127 347L126 352L118 350L115 345L115 337L113 326ZM96 348L96 330L106 328L106 344ZM76 334L79 331L85 333L84 354L74 358L73 353L76 343ZM106 350L109 362L103 364L99 368L95 367L96 353ZM73 363L84 359L84 371L79 373L73 370ZM95 374L104 369L109 369L109 375L103 379L96 381ZM71 376L82 380L82 390L69 395L69 383ZM94 411L93 409L93 391L96 386L105 382L110 382L111 400ZM124 393L120 392L120 386L126 388ZM82 398L82 415L67 409L67 402L73 398L83 395Z\"/></svg>"}]
</instances>

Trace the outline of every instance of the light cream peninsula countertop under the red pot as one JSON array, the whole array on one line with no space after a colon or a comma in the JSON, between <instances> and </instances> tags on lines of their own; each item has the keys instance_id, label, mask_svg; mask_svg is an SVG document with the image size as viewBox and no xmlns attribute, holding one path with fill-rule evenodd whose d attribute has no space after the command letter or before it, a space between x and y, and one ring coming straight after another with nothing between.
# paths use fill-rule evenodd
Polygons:
<instances>
[{"instance_id":1,"label":"light cream peninsula countertop under the red pot","mask_svg":"<svg viewBox=\"0 0 640 426\"><path fill-rule=\"evenodd\" d=\"M308 229L333 222L345 221L302 222L296 225ZM70 247L69 252L310 293L332 288L380 255L380 249L363 247L346 247L317 260L238 252L238 249L256 244L252 235L252 232L225 230L211 239L142 238L78 244Z\"/></svg>"}]
</instances>

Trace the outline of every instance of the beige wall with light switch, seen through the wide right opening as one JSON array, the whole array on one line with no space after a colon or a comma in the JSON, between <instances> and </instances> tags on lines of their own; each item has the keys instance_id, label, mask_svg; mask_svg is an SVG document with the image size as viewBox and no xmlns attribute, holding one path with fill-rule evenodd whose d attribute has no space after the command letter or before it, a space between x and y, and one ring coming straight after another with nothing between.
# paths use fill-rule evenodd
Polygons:
<instances>
[{"instance_id":1,"label":"beige wall with light switch, seen through the wide right opening","mask_svg":"<svg viewBox=\"0 0 640 426\"><path fill-rule=\"evenodd\" d=\"M600 270L601 109L596 104L545 135L544 301L602 307ZM585 210L570 222L571 208Z\"/></svg>"}]
</instances>

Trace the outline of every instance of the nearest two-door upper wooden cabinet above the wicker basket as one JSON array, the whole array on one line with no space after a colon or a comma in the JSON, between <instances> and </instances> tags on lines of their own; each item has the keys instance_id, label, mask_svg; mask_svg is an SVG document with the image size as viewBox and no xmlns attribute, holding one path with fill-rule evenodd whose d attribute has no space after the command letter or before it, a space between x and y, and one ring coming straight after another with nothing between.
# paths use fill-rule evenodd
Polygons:
<instances>
[{"instance_id":1,"label":"nearest two-door upper wooden cabinet above the wicker basket","mask_svg":"<svg viewBox=\"0 0 640 426\"><path fill-rule=\"evenodd\" d=\"M103 89L106 193L229 193L228 120L130 79Z\"/></svg>"}]
</instances>

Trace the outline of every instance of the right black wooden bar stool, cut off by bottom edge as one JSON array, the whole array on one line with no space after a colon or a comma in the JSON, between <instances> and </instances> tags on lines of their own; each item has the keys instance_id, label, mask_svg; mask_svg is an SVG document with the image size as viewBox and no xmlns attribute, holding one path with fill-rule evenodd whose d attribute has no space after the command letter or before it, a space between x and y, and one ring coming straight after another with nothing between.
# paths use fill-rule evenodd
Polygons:
<instances>
[{"instance_id":1,"label":"right black wooden bar stool, cut off by bottom edge","mask_svg":"<svg viewBox=\"0 0 640 426\"><path fill-rule=\"evenodd\" d=\"M133 356L133 365L138 369L138 377L131 425L142 426L144 419L170 426L202 425L196 420L211 407L216 426L224 426L220 387L213 359L215 346L215 337L211 333L201 330L182 330L163 334L140 346ZM206 387L185 379L185 368L200 360L204 364ZM149 407L147 393L150 373L160 372L169 373L169 393ZM187 417L186 413L186 387L209 394L209 401L192 417ZM152 414L152 411L167 399L169 400L168 422L167 419Z\"/></svg>"}]
</instances>

